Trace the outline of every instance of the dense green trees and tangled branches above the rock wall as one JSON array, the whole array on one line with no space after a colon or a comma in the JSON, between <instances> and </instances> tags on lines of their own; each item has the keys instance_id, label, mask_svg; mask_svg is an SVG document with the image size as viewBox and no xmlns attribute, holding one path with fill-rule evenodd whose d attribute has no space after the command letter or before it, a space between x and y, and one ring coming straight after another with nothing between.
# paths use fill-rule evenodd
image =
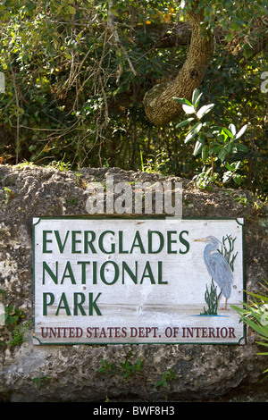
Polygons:
<instances>
[{"instance_id":1,"label":"dense green trees and tangled branches above the rock wall","mask_svg":"<svg viewBox=\"0 0 268 420\"><path fill-rule=\"evenodd\" d=\"M219 182L240 162L239 186L267 195L266 2L3 0L0 21L2 163L193 178L214 154ZM197 154L185 142L173 97L191 101L195 88L200 105L214 104L207 127L247 125L228 162L216 146Z\"/></svg>"}]
</instances>

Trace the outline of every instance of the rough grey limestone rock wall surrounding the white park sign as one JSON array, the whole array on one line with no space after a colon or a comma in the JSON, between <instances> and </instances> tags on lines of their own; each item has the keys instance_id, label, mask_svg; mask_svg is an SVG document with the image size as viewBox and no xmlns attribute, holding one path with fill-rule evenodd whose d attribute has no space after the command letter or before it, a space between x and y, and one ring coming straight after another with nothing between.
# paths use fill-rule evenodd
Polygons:
<instances>
[{"instance_id":1,"label":"rough grey limestone rock wall surrounding the white park sign","mask_svg":"<svg viewBox=\"0 0 268 420\"><path fill-rule=\"evenodd\" d=\"M0 297L25 315L32 316L32 217L87 214L88 181L163 181L157 174L124 172L118 168L60 172L40 167L0 165ZM174 180L174 179L173 179ZM213 188L210 192L183 181L184 217L244 217L245 280L247 290L259 290L267 279L268 221L264 209L256 210L236 200L244 191ZM248 200L247 200L248 202ZM259 290L262 291L262 290ZM4 296L3 296L4 295ZM2 401L105 401L211 399L261 377L266 358L257 356L253 332L247 344L224 345L74 345L33 346L28 339L11 346L14 325L0 326L0 400ZM262 348L261 348L262 349ZM263 350L263 349L262 349ZM130 353L131 352L131 353ZM118 374L99 374L101 361L119 366L130 357L142 360L142 374L128 381ZM167 388L155 387L163 372L177 379Z\"/></svg>"}]
</instances>

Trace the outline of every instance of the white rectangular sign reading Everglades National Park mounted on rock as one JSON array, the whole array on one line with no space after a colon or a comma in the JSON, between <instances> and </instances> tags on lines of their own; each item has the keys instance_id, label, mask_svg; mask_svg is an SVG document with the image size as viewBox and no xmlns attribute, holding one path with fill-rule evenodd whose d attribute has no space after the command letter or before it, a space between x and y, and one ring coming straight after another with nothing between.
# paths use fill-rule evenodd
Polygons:
<instances>
[{"instance_id":1,"label":"white rectangular sign reading Everglades National Park mounted on rock","mask_svg":"<svg viewBox=\"0 0 268 420\"><path fill-rule=\"evenodd\" d=\"M34 218L34 344L244 342L243 219Z\"/></svg>"}]
</instances>

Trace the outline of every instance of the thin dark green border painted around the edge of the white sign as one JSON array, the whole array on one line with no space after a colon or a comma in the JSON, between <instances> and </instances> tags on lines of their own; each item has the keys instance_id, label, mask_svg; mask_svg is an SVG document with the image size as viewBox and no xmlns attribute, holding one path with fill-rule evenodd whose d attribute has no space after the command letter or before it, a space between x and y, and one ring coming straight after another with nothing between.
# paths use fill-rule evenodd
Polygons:
<instances>
[{"instance_id":1,"label":"thin dark green border painted around the edge of the white sign","mask_svg":"<svg viewBox=\"0 0 268 420\"><path fill-rule=\"evenodd\" d=\"M155 345L167 345L167 346L172 346L172 345L186 345L186 346L207 346L207 345L213 345L213 346L239 346L239 345L245 345L247 344L247 331L246 331L246 325L243 325L243 336L239 338L239 340L237 342L195 342L195 343L191 343L191 342L56 342L56 343L47 343L47 342L42 342L40 341L36 336L35 336L35 226L40 223L42 220L100 220L100 219L120 219L120 220L154 220L154 219L159 219L159 220L166 220L166 219L172 220L171 216L166 216L166 215L161 215L161 214L150 214L150 216L143 216L141 217L141 215L136 216L134 215L122 215L122 214L111 214L111 215L107 215L107 214L99 214L96 216L88 216L88 214L86 215L70 215L70 216L39 216L39 217L33 217L33 221L35 219L38 219L37 223L32 223L32 228L33 228L33 325L34 325L34 331L33 331L33 340L38 340L38 345L42 345L42 346L77 346L77 345L83 345L83 346L116 346L116 345L132 345L132 344L136 344L136 345L148 345L148 344L155 344ZM176 218L174 217L174 220L176 220ZM244 259L244 227L245 227L245 219L243 217L213 217L213 218L209 218L209 219L204 219L204 218L199 218L199 217L188 217L188 218L180 218L177 219L179 221L190 221L190 220L200 220L200 221L236 221L240 226L242 226L242 284L243 284L243 301L245 302L246 299L246 290L245 290L245 259ZM239 222L239 220L242 221L242 223ZM245 340L245 343L241 343L242 340ZM37 344L34 344L34 346L36 346Z\"/></svg>"}]
</instances>

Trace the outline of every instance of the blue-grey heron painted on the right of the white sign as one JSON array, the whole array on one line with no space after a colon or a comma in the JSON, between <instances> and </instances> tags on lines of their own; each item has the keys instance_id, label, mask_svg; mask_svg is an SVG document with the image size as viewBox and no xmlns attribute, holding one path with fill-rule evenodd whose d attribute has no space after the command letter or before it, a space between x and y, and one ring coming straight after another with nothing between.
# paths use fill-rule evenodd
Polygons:
<instances>
[{"instance_id":1,"label":"blue-grey heron painted on the right of the white sign","mask_svg":"<svg viewBox=\"0 0 268 420\"><path fill-rule=\"evenodd\" d=\"M207 243L204 249L204 261L206 270L218 284L221 290L218 305L223 295L225 298L225 306L222 309L227 310L227 300L230 298L231 292L232 272L230 265L224 256L222 256L222 254L220 254L218 251L218 248L221 247L222 244L220 240L216 239L214 236L207 236L203 239L195 239L195 242Z\"/></svg>"}]
</instances>

